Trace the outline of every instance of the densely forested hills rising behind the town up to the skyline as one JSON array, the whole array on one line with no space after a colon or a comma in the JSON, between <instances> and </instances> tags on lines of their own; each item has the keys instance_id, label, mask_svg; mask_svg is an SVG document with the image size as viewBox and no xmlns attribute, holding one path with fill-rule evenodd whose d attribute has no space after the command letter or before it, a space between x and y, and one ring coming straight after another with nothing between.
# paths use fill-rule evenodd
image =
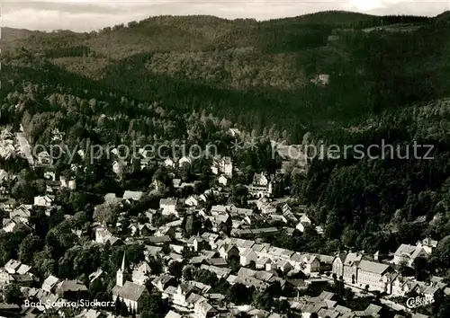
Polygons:
<instances>
[{"instance_id":1,"label":"densely forested hills rising behind the town up to the skyline","mask_svg":"<svg viewBox=\"0 0 450 318\"><path fill-rule=\"evenodd\" d=\"M448 87L445 15L161 16L91 33L4 33L10 58L27 49L141 100L207 109L258 133L276 125L292 142ZM321 74L327 87L311 83Z\"/></svg>"}]
</instances>

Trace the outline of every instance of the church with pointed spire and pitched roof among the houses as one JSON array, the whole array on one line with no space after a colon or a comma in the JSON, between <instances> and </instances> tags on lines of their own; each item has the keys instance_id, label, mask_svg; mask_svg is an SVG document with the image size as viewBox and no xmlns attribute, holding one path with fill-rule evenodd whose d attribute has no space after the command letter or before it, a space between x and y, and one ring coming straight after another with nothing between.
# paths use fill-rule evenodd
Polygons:
<instances>
[{"instance_id":1,"label":"church with pointed spire and pitched roof among the houses","mask_svg":"<svg viewBox=\"0 0 450 318\"><path fill-rule=\"evenodd\" d=\"M146 293L147 288L143 285L135 284L130 281L123 281L125 275L125 253L121 261L121 268L116 273L116 283L112 288L112 300L115 302L117 298L121 300L127 307L130 313L139 313L139 299Z\"/></svg>"}]
</instances>

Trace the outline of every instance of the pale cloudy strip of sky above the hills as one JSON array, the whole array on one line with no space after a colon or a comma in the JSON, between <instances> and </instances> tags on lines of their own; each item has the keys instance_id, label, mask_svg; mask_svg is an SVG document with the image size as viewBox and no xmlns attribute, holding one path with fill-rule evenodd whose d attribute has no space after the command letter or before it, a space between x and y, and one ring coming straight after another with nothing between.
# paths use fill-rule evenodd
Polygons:
<instances>
[{"instance_id":1,"label":"pale cloudy strip of sky above the hills","mask_svg":"<svg viewBox=\"0 0 450 318\"><path fill-rule=\"evenodd\" d=\"M276 19L325 10L435 16L450 0L0 0L1 26L93 31L155 15L208 14L221 18Z\"/></svg>"}]
</instances>

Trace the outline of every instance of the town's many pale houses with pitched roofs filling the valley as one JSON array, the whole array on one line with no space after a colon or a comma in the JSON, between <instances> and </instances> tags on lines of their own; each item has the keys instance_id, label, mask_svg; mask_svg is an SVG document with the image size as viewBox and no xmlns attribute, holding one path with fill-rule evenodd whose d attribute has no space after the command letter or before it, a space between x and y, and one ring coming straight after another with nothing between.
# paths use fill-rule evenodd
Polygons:
<instances>
[{"instance_id":1,"label":"town's many pale houses with pitched roofs filling the valley","mask_svg":"<svg viewBox=\"0 0 450 318\"><path fill-rule=\"evenodd\" d=\"M40 157L41 160L38 159L44 163L45 157L44 154ZM148 163L145 154L140 160L133 159L131 163L116 160L112 163L112 172L121 177L123 172L130 171L128 169L144 169ZM191 163L192 159L185 156L176 162L171 158L161 162L168 168L183 167ZM83 167L72 164L71 168L75 172ZM109 243L114 247L143 243L145 246L146 260L138 264L130 263L126 254L123 254L121 266L115 275L115 285L112 287L113 302L119 299L131 313L139 314L139 301L148 295L147 286L151 283L171 305L171 311L166 318L230 318L239 313L246 313L251 317L285 317L284 314L266 312L251 305L229 304L227 296L214 291L213 286L195 280L175 278L169 270L170 264L174 262L183 262L184 267L194 270L208 270L218 279L225 279L230 285L242 284L258 292L265 292L275 283L284 290L296 290L298 296L288 299L289 305L294 313L304 318L309 318L311 314L318 314L321 318L383 317L386 310L389 310L386 306L371 304L364 311L356 311L338 305L337 297L325 291L320 296L300 296L308 287L323 287L335 284L337 280L356 291L357 296L374 292L382 293L386 297L407 296L411 293L422 296L450 295L450 287L442 278L433 277L425 282L414 277L401 276L401 267L413 267L416 260L427 260L435 251L437 241L431 238L426 238L416 245L401 244L390 260L382 259L378 253L368 255L365 252L337 252L324 255L290 251L266 243L266 237L281 231L286 234L293 234L295 230L323 234L323 229L314 224L306 207L289 204L289 198L277 198L280 186L277 174L267 172L255 173L253 181L247 185L248 207L251 208L240 208L233 204L207 208L209 195L227 193L229 181L236 172L230 157L216 157L211 163L211 173L216 176L218 185L212 186L204 193L188 195L186 198L162 198L157 208L144 212L145 222L123 212L114 225L93 222L88 229L93 235L86 235L85 230L81 229L72 230L79 237L94 237L91 243L98 245ZM6 198L0 202L0 208L8 213L8 217L3 220L4 232L14 232L23 226L32 231L30 217L36 209L43 209L50 216L58 210L58 206L53 202L55 193L60 189L76 190L75 179L66 179L63 176L57 178L55 172L51 171L45 172L43 177L46 180L46 193L35 197L33 204L16 205L14 200L8 198L9 187L2 187L2 184L14 181L17 176L0 171L0 191ZM158 181L154 181L152 185L155 189L162 186ZM183 183L174 175L174 189L193 185L194 183ZM143 191L126 190L121 198L113 193L106 194L104 202L120 206L125 202L139 202L144 196ZM157 214L169 221L156 225L153 218ZM211 228L202 231L202 234L185 237L182 228L184 216L196 216L202 225L209 223ZM123 222L125 219L129 222ZM124 224L127 224L128 228L125 230L128 230L126 232L129 234L117 234L123 232ZM189 259L183 256L186 252L191 255ZM155 275L149 266L153 258L163 260L162 274ZM231 263L237 264L239 269L231 269ZM89 285L96 279L103 279L105 275L103 269L97 269L89 275ZM20 285L23 296L40 300L44 304L38 308L13 306L8 309L28 317L36 317L49 310L45 305L48 301L54 303L88 295L89 285L86 286L76 279L60 279L55 275L49 275L40 282L33 275L30 266L16 260L8 261L4 268L0 269L0 285L6 287L13 282ZM2 310L0 306L0 314ZM115 317L113 310L105 312L107 316ZM77 317L97 318L102 313L104 310L85 308ZM413 317L426 316L413 314Z\"/></svg>"}]
</instances>

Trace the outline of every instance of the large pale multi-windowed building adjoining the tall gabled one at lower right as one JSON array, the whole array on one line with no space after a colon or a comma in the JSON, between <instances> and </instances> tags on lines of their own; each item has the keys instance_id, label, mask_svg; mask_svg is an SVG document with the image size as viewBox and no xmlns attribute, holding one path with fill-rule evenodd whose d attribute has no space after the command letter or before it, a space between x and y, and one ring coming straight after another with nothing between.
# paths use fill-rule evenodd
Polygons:
<instances>
[{"instance_id":1,"label":"large pale multi-windowed building adjoining the tall gabled one at lower right","mask_svg":"<svg viewBox=\"0 0 450 318\"><path fill-rule=\"evenodd\" d=\"M368 290L392 294L392 282L396 277L391 265L374 261L360 261L356 271L356 284Z\"/></svg>"}]
</instances>

